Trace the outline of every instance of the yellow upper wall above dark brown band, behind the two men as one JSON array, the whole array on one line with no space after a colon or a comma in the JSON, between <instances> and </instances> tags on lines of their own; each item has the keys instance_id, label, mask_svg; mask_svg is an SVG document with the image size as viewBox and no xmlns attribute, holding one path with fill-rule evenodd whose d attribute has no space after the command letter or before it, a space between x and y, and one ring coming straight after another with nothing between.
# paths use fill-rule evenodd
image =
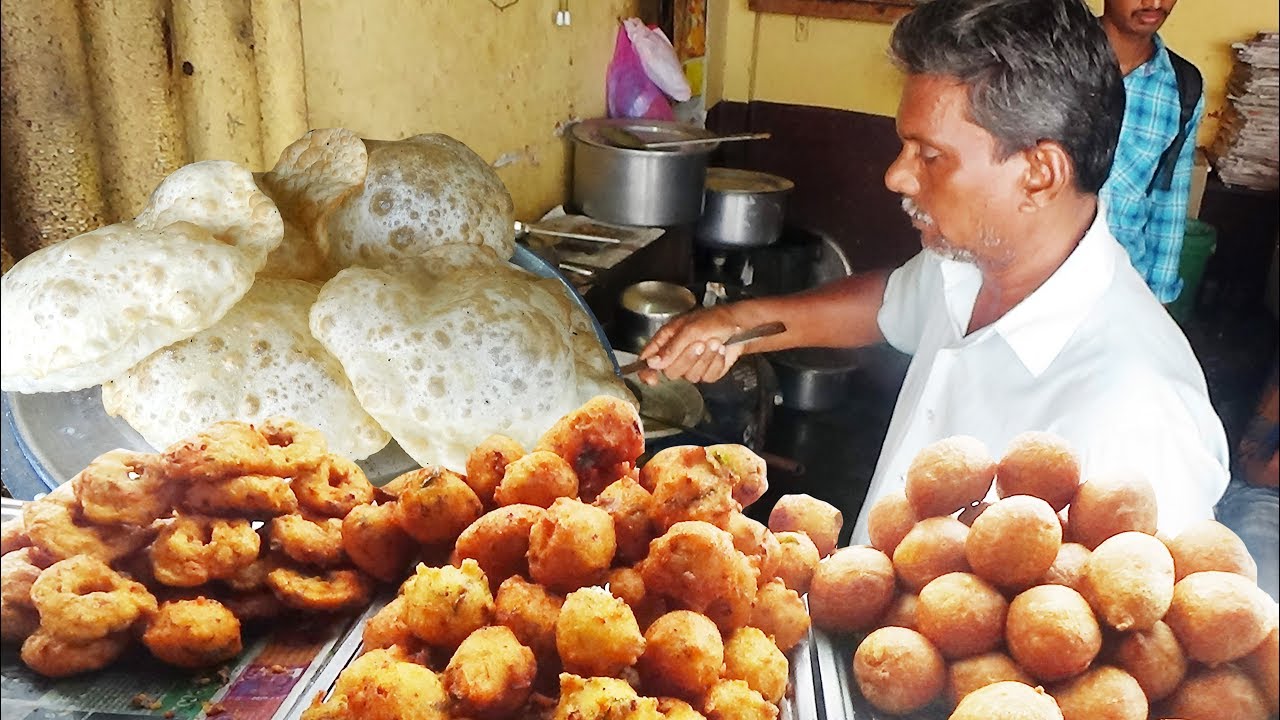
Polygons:
<instances>
[{"instance_id":1,"label":"yellow upper wall above dark brown band, behind the two men","mask_svg":"<svg viewBox=\"0 0 1280 720\"><path fill-rule=\"evenodd\" d=\"M1089 4L1101 12L1101 0ZM764 100L895 114L901 78L886 55L891 26L753 13L748 0L712 0L712 5L708 24L713 33L723 28L724 63L713 59L708 87L718 92L709 104ZM1183 0L1161 35L1204 74L1206 109L1212 113L1224 104L1231 44L1277 26L1275 0ZM1211 142L1216 129L1216 119L1207 117L1201 145Z\"/></svg>"}]
</instances>

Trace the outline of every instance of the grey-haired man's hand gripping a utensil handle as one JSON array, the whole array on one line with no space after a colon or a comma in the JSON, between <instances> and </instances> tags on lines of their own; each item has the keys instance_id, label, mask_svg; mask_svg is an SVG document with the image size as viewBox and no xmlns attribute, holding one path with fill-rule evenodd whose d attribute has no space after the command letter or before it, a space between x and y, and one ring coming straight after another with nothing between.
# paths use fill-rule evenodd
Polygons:
<instances>
[{"instance_id":1,"label":"grey-haired man's hand gripping a utensil handle","mask_svg":"<svg viewBox=\"0 0 1280 720\"><path fill-rule=\"evenodd\" d=\"M668 378L694 383L716 382L742 355L741 345L723 345L740 331L742 325L733 316L732 305L694 310L673 318L640 351L640 359L649 361L649 369L641 370L639 377L648 384L658 383L659 372Z\"/></svg>"}]
</instances>

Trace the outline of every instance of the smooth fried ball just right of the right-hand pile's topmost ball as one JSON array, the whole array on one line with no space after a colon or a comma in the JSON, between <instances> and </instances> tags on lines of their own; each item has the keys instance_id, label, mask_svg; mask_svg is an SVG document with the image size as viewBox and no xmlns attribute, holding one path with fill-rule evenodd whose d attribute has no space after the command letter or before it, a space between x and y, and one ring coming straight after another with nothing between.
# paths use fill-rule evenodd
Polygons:
<instances>
[{"instance_id":1,"label":"smooth fried ball just right of the right-hand pile's topmost ball","mask_svg":"<svg viewBox=\"0 0 1280 720\"><path fill-rule=\"evenodd\" d=\"M1089 478L1075 491L1068 539L1093 550L1129 530L1156 534L1156 488L1147 478L1116 471Z\"/></svg>"}]
</instances>

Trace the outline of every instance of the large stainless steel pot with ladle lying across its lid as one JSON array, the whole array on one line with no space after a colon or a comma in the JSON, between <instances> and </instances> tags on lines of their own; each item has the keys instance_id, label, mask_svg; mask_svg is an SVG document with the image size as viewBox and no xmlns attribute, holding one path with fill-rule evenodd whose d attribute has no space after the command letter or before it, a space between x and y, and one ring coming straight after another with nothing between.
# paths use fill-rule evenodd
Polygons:
<instances>
[{"instance_id":1,"label":"large stainless steel pot with ladle lying across its lid","mask_svg":"<svg viewBox=\"0 0 1280 720\"><path fill-rule=\"evenodd\" d=\"M703 214L707 159L718 145L636 150L609 140L623 128L645 141L714 137L694 126L664 120L594 119L576 123L573 204L586 215L622 225L678 225Z\"/></svg>"}]
</instances>

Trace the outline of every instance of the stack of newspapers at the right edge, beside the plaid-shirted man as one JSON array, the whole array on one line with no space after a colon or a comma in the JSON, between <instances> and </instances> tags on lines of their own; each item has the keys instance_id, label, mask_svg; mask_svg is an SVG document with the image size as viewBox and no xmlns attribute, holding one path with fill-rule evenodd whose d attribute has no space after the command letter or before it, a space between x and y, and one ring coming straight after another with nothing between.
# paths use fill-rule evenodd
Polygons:
<instances>
[{"instance_id":1,"label":"stack of newspapers at the right edge, beside the plaid-shirted man","mask_svg":"<svg viewBox=\"0 0 1280 720\"><path fill-rule=\"evenodd\" d=\"M1280 187L1280 33L1238 42L1210 159L1226 184Z\"/></svg>"}]
</instances>

